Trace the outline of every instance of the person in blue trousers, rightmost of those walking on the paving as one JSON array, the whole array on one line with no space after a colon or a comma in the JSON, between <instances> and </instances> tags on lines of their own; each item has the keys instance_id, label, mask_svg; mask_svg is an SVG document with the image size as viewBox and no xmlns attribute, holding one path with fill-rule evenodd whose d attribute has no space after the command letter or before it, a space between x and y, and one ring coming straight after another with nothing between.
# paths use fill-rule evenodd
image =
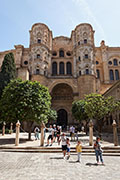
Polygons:
<instances>
[{"instance_id":1,"label":"person in blue trousers, rightmost of those walking on the paving","mask_svg":"<svg viewBox=\"0 0 120 180\"><path fill-rule=\"evenodd\" d=\"M97 164L99 164L99 157L100 157L101 163L104 164L103 158L102 158L102 149L101 149L101 144L100 144L100 138L99 137L96 138L96 142L94 144L94 149L95 149L95 155L96 155Z\"/></svg>"}]
</instances>

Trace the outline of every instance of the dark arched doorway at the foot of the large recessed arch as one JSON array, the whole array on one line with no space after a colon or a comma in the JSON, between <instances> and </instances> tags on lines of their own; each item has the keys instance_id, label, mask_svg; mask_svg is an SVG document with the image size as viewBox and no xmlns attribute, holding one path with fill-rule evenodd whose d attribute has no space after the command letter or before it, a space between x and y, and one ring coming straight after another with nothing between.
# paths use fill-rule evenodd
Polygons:
<instances>
[{"instance_id":1,"label":"dark arched doorway at the foot of the large recessed arch","mask_svg":"<svg viewBox=\"0 0 120 180\"><path fill-rule=\"evenodd\" d=\"M63 128L66 128L68 123L67 111L65 109L59 109L57 114L58 114L57 124L62 126Z\"/></svg>"}]
</instances>

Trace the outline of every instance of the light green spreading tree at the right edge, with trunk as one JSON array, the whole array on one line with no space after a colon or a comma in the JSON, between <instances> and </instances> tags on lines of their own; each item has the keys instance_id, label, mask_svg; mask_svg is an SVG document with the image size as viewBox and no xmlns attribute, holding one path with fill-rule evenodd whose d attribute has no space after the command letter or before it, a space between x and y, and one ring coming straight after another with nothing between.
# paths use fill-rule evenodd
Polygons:
<instances>
[{"instance_id":1,"label":"light green spreading tree at the right edge, with trunk","mask_svg":"<svg viewBox=\"0 0 120 180\"><path fill-rule=\"evenodd\" d=\"M89 119L95 119L99 132L102 130L104 117L119 108L119 103L113 97L105 98L101 94L89 94L85 96L85 112Z\"/></svg>"}]
</instances>

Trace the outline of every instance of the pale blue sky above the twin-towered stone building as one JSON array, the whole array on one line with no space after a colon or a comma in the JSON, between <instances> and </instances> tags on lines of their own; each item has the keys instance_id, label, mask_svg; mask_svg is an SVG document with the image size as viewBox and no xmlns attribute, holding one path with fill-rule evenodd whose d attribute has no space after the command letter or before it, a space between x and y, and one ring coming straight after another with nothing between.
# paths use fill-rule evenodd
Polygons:
<instances>
[{"instance_id":1,"label":"pale blue sky above the twin-towered stone building","mask_svg":"<svg viewBox=\"0 0 120 180\"><path fill-rule=\"evenodd\" d=\"M0 51L29 47L29 30L45 23L55 36L70 37L80 23L95 30L95 45L120 46L120 0L0 0Z\"/></svg>"}]
</instances>

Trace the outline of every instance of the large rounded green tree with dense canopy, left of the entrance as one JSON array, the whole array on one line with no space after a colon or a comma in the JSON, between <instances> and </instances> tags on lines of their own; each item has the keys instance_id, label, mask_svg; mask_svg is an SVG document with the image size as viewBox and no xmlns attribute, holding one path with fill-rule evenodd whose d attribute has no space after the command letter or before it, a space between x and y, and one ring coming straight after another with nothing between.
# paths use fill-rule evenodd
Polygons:
<instances>
[{"instance_id":1,"label":"large rounded green tree with dense canopy, left of the entrance","mask_svg":"<svg viewBox=\"0 0 120 180\"><path fill-rule=\"evenodd\" d=\"M0 118L7 122L27 121L29 139L34 121L46 123L51 105L48 89L39 82L12 80L0 100Z\"/></svg>"}]
</instances>

